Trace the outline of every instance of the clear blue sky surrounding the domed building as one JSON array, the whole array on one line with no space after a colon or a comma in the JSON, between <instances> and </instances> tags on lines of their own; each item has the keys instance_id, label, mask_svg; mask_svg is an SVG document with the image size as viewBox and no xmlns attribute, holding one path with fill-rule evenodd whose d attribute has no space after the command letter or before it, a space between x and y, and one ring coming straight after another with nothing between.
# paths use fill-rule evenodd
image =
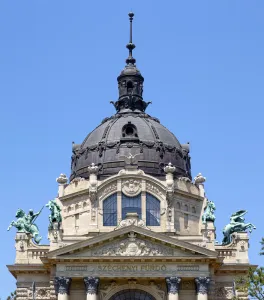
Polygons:
<instances>
[{"instance_id":1,"label":"clear blue sky surrounding the domed building","mask_svg":"<svg viewBox=\"0 0 264 300\"><path fill-rule=\"evenodd\" d=\"M247 209L250 257L262 264L263 1L1 1L0 297L15 289L18 207L40 209L70 174L71 142L114 113L128 17L148 113L191 143L192 174L207 177L217 239ZM47 241L48 211L38 224Z\"/></svg>"}]
</instances>

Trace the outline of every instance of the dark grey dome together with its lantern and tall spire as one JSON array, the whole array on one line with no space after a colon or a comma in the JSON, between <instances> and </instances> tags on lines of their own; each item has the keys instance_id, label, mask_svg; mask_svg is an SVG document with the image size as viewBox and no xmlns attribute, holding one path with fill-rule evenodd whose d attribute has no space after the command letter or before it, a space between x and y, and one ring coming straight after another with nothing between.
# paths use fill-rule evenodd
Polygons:
<instances>
[{"instance_id":1,"label":"dark grey dome together with its lantern and tall spire","mask_svg":"<svg viewBox=\"0 0 264 300\"><path fill-rule=\"evenodd\" d=\"M119 98L112 102L117 113L106 118L87 135L82 144L73 144L72 174L88 178L88 166L99 166L99 177L117 174L124 168L124 157L137 155L138 167L152 176L164 176L163 168L172 163L175 175L191 178L189 146L177 138L157 118L145 113L150 102L143 100L144 78L136 68L132 56L132 20L127 65L118 76Z\"/></svg>"}]
</instances>

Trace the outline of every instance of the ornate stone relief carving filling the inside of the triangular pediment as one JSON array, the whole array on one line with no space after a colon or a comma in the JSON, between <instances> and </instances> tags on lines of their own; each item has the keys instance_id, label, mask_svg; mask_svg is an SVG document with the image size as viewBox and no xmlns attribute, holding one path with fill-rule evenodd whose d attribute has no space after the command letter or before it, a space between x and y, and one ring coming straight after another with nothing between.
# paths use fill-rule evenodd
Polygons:
<instances>
[{"instance_id":1,"label":"ornate stone relief carving filling the inside of the triangular pediment","mask_svg":"<svg viewBox=\"0 0 264 300\"><path fill-rule=\"evenodd\" d=\"M127 239L119 240L111 245L97 247L92 256L172 256L173 249L164 245L138 239L134 232Z\"/></svg>"}]
</instances>

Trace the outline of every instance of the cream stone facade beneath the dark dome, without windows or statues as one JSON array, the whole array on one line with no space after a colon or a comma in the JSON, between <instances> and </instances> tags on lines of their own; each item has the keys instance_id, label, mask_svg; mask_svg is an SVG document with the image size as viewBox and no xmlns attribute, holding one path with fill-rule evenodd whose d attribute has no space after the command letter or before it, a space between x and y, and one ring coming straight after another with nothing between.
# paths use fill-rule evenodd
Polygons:
<instances>
[{"instance_id":1,"label":"cream stone facade beneath the dark dome, without windows or statues","mask_svg":"<svg viewBox=\"0 0 264 300\"><path fill-rule=\"evenodd\" d=\"M36 299L108 300L126 289L155 299L233 297L234 279L249 267L248 236L237 233L227 246L215 243L214 224L201 222L203 184L176 179L168 201L168 180L139 169L93 180L93 199L89 180L59 183L62 223L49 230L49 245L17 233L15 264L8 268L18 300L31 299L33 281ZM114 193L119 225L104 226L103 201ZM160 201L160 226L146 225L146 193ZM123 194L141 195L141 219L130 213L121 222Z\"/></svg>"}]
</instances>

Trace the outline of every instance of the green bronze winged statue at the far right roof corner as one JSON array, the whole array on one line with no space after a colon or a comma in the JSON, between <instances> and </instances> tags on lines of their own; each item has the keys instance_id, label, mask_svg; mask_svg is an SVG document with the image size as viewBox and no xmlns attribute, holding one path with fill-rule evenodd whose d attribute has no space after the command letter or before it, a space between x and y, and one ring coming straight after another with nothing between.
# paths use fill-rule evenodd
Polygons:
<instances>
[{"instance_id":1,"label":"green bronze winged statue at the far right roof corner","mask_svg":"<svg viewBox=\"0 0 264 300\"><path fill-rule=\"evenodd\" d=\"M252 223L245 223L244 215L246 213L246 210L239 210L232 214L230 223L223 229L224 238L222 245L228 245L232 242L232 234L234 232L244 232L247 229L249 229L249 232L252 232L253 229L256 229L256 226Z\"/></svg>"}]
</instances>

